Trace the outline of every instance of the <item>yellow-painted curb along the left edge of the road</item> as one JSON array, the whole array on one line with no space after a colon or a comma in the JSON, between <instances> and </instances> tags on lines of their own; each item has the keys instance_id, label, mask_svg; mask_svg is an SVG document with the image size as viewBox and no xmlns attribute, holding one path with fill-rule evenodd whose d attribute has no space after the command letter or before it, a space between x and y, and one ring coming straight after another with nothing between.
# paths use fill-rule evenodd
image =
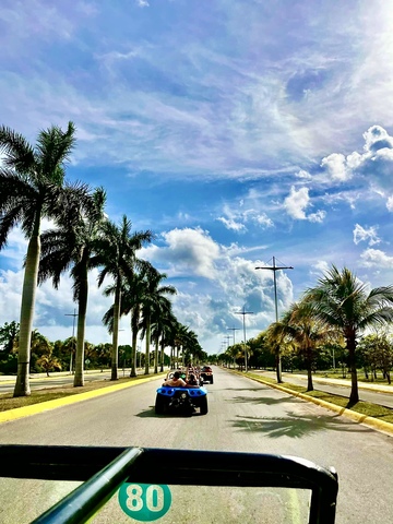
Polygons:
<instances>
[{"instance_id":1,"label":"yellow-painted curb along the left edge of the road","mask_svg":"<svg viewBox=\"0 0 393 524\"><path fill-rule=\"evenodd\" d=\"M107 395L108 393L124 390L126 388L132 388L133 385L143 384L144 382L151 382L153 380L159 379L162 374L163 373L158 373L154 377L141 378L123 384L107 385L106 388L99 388L97 390L86 391L84 393L76 393L75 395L64 396L63 398L56 398L53 401L41 402L39 404L32 404L31 406L15 407L14 409L0 412L0 424L16 420L19 418L29 417L32 415L37 415L38 413L48 412L50 409L56 409L58 407L67 406L69 404L88 401L90 398Z\"/></svg>"}]
</instances>

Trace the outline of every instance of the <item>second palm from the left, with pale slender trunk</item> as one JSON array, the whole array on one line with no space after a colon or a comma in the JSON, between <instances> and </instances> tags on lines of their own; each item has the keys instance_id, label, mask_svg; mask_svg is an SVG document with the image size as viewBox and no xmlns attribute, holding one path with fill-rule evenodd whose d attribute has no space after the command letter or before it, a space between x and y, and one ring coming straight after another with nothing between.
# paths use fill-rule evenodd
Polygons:
<instances>
[{"instance_id":1,"label":"second palm from the left, with pale slender trunk","mask_svg":"<svg viewBox=\"0 0 393 524\"><path fill-rule=\"evenodd\" d=\"M97 188L81 202L79 212L64 210L58 228L43 233L38 282L51 277L57 289L60 275L71 267L73 299L78 301L76 356L74 386L84 385L85 325L88 296L88 271L95 254L95 242L104 221L106 193ZM74 205L73 203L71 205Z\"/></svg>"}]
</instances>

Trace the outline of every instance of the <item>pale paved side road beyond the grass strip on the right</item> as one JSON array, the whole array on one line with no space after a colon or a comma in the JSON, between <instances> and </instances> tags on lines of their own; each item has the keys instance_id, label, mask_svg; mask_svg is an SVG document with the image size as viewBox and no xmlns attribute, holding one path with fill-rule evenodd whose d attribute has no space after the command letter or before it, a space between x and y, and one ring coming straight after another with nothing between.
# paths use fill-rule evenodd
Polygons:
<instances>
[{"instance_id":1,"label":"pale paved side road beyond the grass strip on the right","mask_svg":"<svg viewBox=\"0 0 393 524\"><path fill-rule=\"evenodd\" d=\"M272 371L254 371L261 376L269 378L276 378L275 372ZM295 373L283 373L284 382L307 386L307 377ZM350 394L350 382L340 379L322 379L312 378L314 389L332 393L336 395L347 396ZM285 385L285 383L283 384ZM380 406L393 408L393 386L383 384L369 384L359 381L359 397L360 401L371 402Z\"/></svg>"}]
</instances>

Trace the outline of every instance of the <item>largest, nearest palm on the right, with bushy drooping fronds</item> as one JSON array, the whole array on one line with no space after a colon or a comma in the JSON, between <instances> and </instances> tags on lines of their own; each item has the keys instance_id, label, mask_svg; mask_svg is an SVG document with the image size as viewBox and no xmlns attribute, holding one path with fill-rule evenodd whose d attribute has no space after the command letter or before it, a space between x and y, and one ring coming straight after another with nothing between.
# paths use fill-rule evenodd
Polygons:
<instances>
[{"instance_id":1,"label":"largest, nearest palm on the right, with bushy drooping fronds","mask_svg":"<svg viewBox=\"0 0 393 524\"><path fill-rule=\"evenodd\" d=\"M347 267L332 265L318 285L307 290L305 300L313 315L342 333L348 350L352 390L349 402L359 401L355 352L358 336L367 327L386 324L393 320L393 286L367 290Z\"/></svg>"}]
</instances>

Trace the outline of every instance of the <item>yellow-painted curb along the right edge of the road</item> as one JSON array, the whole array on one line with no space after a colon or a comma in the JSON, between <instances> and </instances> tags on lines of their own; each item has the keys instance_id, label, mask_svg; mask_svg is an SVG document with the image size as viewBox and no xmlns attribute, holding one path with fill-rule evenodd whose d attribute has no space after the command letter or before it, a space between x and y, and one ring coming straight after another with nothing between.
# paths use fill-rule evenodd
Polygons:
<instances>
[{"instance_id":1,"label":"yellow-painted curb along the right edge of the road","mask_svg":"<svg viewBox=\"0 0 393 524\"><path fill-rule=\"evenodd\" d=\"M248 379L254 380L255 382L261 382L264 385L269 385L271 388L274 388L275 390L283 391L284 393L288 393L291 396L297 396L306 402L312 402L313 404L317 404L321 407L325 407L326 409L335 412L338 415L350 418L355 422L364 424L365 426L368 426L372 429L378 429L379 431L393 434L393 424L384 422L383 420L378 420L377 418L369 417L368 415L362 415L361 413L353 412L352 409L347 409L346 407L336 406L331 402L322 401L320 398L314 398L313 396L306 395L305 393L299 393L298 391L289 390L288 388L285 388L279 384L273 384L271 382L267 382L257 377L250 377L249 374L243 374L238 371L235 371L235 373L240 374L241 377L247 377Z\"/></svg>"}]
</instances>

